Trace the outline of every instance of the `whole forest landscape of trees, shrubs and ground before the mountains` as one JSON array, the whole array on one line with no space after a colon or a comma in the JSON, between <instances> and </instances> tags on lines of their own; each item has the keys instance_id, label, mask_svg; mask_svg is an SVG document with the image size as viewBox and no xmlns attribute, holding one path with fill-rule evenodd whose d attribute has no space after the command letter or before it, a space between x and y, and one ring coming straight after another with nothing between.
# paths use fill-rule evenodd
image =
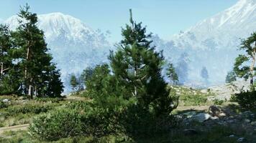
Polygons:
<instances>
[{"instance_id":1,"label":"whole forest landscape of trees, shrubs and ground before the mountains","mask_svg":"<svg viewBox=\"0 0 256 143\"><path fill-rule=\"evenodd\" d=\"M238 92L221 99L184 85L186 53L180 66L165 59L132 14L106 63L70 73L70 94L37 14L22 6L16 30L0 24L0 142L256 142L256 32L240 41L226 77Z\"/></svg>"}]
</instances>

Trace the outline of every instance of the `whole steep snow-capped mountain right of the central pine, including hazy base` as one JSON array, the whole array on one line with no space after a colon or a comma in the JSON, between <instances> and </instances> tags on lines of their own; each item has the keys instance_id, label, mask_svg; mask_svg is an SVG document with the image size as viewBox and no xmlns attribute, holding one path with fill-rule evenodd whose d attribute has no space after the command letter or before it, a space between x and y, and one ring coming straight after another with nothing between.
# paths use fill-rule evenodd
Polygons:
<instances>
[{"instance_id":1,"label":"whole steep snow-capped mountain right of the central pine, including hazy base","mask_svg":"<svg viewBox=\"0 0 256 143\"><path fill-rule=\"evenodd\" d=\"M256 0L239 0L219 14L159 42L168 59L178 59L183 52L190 60L189 79L201 82L200 71L206 66L211 84L223 83L232 69L241 39L256 31Z\"/></svg>"}]
</instances>

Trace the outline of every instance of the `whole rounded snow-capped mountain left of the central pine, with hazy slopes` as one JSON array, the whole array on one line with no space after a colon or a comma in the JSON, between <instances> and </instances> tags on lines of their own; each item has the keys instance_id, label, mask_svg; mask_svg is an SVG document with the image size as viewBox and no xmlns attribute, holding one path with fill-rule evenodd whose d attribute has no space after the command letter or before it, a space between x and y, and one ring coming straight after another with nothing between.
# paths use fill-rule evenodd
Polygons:
<instances>
[{"instance_id":1,"label":"whole rounded snow-capped mountain left of the central pine, with hazy slopes","mask_svg":"<svg viewBox=\"0 0 256 143\"><path fill-rule=\"evenodd\" d=\"M17 19L18 16L12 16L4 23L15 30L19 25ZM61 69L65 92L70 89L69 74L106 62L111 46L100 30L95 31L83 21L62 13L38 15L38 26L45 32L53 61Z\"/></svg>"}]
</instances>

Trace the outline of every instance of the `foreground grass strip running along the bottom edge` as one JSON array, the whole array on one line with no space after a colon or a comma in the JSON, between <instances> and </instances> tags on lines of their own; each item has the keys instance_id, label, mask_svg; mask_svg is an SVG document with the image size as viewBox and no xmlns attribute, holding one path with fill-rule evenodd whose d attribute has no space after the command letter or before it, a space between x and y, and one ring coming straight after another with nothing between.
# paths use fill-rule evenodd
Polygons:
<instances>
[{"instance_id":1,"label":"foreground grass strip running along the bottom edge","mask_svg":"<svg viewBox=\"0 0 256 143\"><path fill-rule=\"evenodd\" d=\"M234 134L234 137L229 137ZM29 136L27 132L6 132L5 135L8 135L9 138L1 138L0 142L21 142L21 143L44 143L40 140L33 139ZM255 142L255 137L253 135L244 134L244 130L234 129L232 127L224 126L215 126L208 130L198 129L198 134L184 134L183 129L173 129L168 134L157 134L151 137L132 137L128 138L120 135L107 135L104 137L73 137L60 139L51 143L83 143L83 142L147 142L147 143L164 143L164 142L173 142L173 143L234 143L237 142L239 137L246 137L248 141ZM126 141L125 141L126 140Z\"/></svg>"}]
</instances>

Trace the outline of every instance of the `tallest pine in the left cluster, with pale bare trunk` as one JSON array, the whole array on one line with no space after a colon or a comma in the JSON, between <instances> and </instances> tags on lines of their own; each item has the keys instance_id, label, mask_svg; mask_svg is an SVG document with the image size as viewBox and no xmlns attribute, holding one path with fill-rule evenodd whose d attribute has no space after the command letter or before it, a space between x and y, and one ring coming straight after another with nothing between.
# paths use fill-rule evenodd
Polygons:
<instances>
[{"instance_id":1,"label":"tallest pine in the left cluster, with pale bare trunk","mask_svg":"<svg viewBox=\"0 0 256 143\"><path fill-rule=\"evenodd\" d=\"M17 61L22 74L20 89L23 94L28 94L32 98L33 94L37 96L37 93L46 93L42 91L49 89L47 86L52 80L50 73L58 73L58 71L51 62L52 56L48 54L44 33L37 27L37 14L29 12L29 6L26 5L22 7L18 16L19 27L13 33L15 46L12 51L13 60ZM62 82L58 84L63 87ZM59 93L59 91L51 92Z\"/></svg>"}]
</instances>

